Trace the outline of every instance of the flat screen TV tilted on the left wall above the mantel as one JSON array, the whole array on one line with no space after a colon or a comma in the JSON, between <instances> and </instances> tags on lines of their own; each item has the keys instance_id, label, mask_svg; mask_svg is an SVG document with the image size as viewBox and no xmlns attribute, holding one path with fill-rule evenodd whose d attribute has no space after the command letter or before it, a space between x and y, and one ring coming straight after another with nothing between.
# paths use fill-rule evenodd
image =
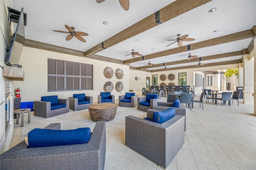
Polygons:
<instances>
[{"instance_id":1,"label":"flat screen TV tilted on the left wall above the mantel","mask_svg":"<svg viewBox=\"0 0 256 170\"><path fill-rule=\"evenodd\" d=\"M16 27L16 31L14 32L14 35L12 36L12 41L10 44L10 47L7 51L7 55L5 58L5 63L8 66L18 66L20 54L22 51L22 47L25 41L25 33L24 33L24 14L23 14L23 8L21 8L20 11L20 17L18 20L18 24Z\"/></svg>"}]
</instances>

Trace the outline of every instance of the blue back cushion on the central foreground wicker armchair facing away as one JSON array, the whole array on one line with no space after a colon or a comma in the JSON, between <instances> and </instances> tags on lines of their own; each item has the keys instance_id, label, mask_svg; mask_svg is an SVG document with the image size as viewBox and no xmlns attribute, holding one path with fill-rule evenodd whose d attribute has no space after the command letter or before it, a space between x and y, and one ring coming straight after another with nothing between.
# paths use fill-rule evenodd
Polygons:
<instances>
[{"instance_id":1,"label":"blue back cushion on the central foreground wicker armchair facing away","mask_svg":"<svg viewBox=\"0 0 256 170\"><path fill-rule=\"evenodd\" d=\"M166 111L154 112L153 122L164 123L175 116L175 109L169 108Z\"/></svg>"}]
</instances>

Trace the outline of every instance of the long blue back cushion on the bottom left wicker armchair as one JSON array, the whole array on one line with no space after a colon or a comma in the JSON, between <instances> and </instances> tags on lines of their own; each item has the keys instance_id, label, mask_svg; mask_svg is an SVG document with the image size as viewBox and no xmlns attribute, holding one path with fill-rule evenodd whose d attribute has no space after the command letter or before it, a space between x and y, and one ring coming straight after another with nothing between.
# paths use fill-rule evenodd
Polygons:
<instances>
[{"instance_id":1,"label":"long blue back cushion on the bottom left wicker armchair","mask_svg":"<svg viewBox=\"0 0 256 170\"><path fill-rule=\"evenodd\" d=\"M35 128L28 132L28 147L58 146L87 143L91 137L90 128L53 130Z\"/></svg>"}]
</instances>

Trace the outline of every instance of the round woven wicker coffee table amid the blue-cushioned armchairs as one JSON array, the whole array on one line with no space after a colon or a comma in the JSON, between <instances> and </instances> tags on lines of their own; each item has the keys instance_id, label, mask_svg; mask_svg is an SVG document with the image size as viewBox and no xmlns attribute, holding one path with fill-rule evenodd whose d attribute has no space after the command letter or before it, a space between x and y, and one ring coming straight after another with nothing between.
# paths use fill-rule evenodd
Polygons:
<instances>
[{"instance_id":1,"label":"round woven wicker coffee table amid the blue-cushioned armchairs","mask_svg":"<svg viewBox=\"0 0 256 170\"><path fill-rule=\"evenodd\" d=\"M111 121L116 116L117 105L114 103L99 103L88 107L92 121Z\"/></svg>"}]
</instances>

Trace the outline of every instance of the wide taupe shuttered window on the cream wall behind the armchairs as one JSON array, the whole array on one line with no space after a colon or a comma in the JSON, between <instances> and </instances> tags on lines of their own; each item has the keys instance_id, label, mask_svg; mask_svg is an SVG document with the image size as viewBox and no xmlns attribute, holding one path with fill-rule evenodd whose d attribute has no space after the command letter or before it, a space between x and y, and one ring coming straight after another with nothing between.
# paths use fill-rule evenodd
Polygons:
<instances>
[{"instance_id":1,"label":"wide taupe shuttered window on the cream wall behind the armchairs","mask_svg":"<svg viewBox=\"0 0 256 170\"><path fill-rule=\"evenodd\" d=\"M48 92L93 89L93 65L48 59Z\"/></svg>"}]
</instances>

